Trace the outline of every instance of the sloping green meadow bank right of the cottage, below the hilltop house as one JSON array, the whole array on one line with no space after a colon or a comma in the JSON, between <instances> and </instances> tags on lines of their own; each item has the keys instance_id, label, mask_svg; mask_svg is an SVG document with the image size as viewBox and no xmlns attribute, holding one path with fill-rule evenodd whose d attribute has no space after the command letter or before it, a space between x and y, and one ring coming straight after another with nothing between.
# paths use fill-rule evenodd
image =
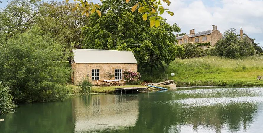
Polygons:
<instances>
[{"instance_id":1,"label":"sloping green meadow bank right of the cottage, below the hilltop house","mask_svg":"<svg viewBox=\"0 0 263 133\"><path fill-rule=\"evenodd\" d=\"M263 57L176 59L165 73L178 86L263 86Z\"/></svg>"}]
</instances>

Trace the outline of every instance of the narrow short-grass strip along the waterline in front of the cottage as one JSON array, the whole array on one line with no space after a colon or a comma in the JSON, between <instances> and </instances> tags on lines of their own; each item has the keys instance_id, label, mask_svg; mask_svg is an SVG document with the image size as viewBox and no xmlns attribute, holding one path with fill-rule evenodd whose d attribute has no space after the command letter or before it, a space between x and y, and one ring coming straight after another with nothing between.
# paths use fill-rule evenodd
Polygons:
<instances>
[{"instance_id":1,"label":"narrow short-grass strip along the waterline in front of the cottage","mask_svg":"<svg viewBox=\"0 0 263 133\"><path fill-rule=\"evenodd\" d=\"M170 88L169 86L164 86L164 85L158 85L159 87L163 88ZM79 88L77 85L70 85L72 87L72 94L79 94ZM91 93L114 93L115 88L118 86L108 86L108 87L100 87L100 86L92 86L92 92ZM145 87L141 85L126 85L126 86L121 86L121 87ZM157 88L152 88L149 87L149 91L158 91L161 89Z\"/></svg>"}]
</instances>

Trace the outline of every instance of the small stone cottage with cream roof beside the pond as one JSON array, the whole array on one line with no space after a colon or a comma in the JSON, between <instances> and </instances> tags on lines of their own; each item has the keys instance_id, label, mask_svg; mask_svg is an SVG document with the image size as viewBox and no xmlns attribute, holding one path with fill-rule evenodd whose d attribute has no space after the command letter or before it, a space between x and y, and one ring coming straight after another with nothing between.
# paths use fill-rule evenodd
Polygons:
<instances>
[{"instance_id":1,"label":"small stone cottage with cream roof beside the pond","mask_svg":"<svg viewBox=\"0 0 263 133\"><path fill-rule=\"evenodd\" d=\"M124 70L138 71L138 63L131 51L73 49L72 82L83 78L92 81L123 80Z\"/></svg>"}]
</instances>

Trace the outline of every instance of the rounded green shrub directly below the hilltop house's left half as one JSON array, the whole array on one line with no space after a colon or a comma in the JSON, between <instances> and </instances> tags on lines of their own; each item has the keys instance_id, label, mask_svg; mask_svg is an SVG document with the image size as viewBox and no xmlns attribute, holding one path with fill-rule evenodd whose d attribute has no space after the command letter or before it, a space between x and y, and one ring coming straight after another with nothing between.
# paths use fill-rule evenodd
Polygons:
<instances>
[{"instance_id":1,"label":"rounded green shrub directly below the hilltop house's left half","mask_svg":"<svg viewBox=\"0 0 263 133\"><path fill-rule=\"evenodd\" d=\"M202 57L203 56L203 50L197 46L197 44L193 42L189 43L184 43L183 44L184 48L184 56L182 57L183 59L185 58L195 58L195 57Z\"/></svg>"}]
</instances>

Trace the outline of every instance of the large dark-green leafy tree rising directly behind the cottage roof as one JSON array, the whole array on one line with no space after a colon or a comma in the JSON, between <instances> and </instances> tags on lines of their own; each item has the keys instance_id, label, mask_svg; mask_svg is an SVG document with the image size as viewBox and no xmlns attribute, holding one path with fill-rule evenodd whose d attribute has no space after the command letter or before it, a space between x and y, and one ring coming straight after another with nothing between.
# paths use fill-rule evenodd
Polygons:
<instances>
[{"instance_id":1,"label":"large dark-green leafy tree rising directly behind the cottage roof","mask_svg":"<svg viewBox=\"0 0 263 133\"><path fill-rule=\"evenodd\" d=\"M131 12L130 4L124 0L105 0L100 11L103 14L90 15L90 26L83 30L85 39L82 48L132 50L139 64L150 66L169 65L175 59L176 39L173 32L180 28L160 20L160 27L151 28L149 20L142 20L143 14Z\"/></svg>"}]
</instances>

